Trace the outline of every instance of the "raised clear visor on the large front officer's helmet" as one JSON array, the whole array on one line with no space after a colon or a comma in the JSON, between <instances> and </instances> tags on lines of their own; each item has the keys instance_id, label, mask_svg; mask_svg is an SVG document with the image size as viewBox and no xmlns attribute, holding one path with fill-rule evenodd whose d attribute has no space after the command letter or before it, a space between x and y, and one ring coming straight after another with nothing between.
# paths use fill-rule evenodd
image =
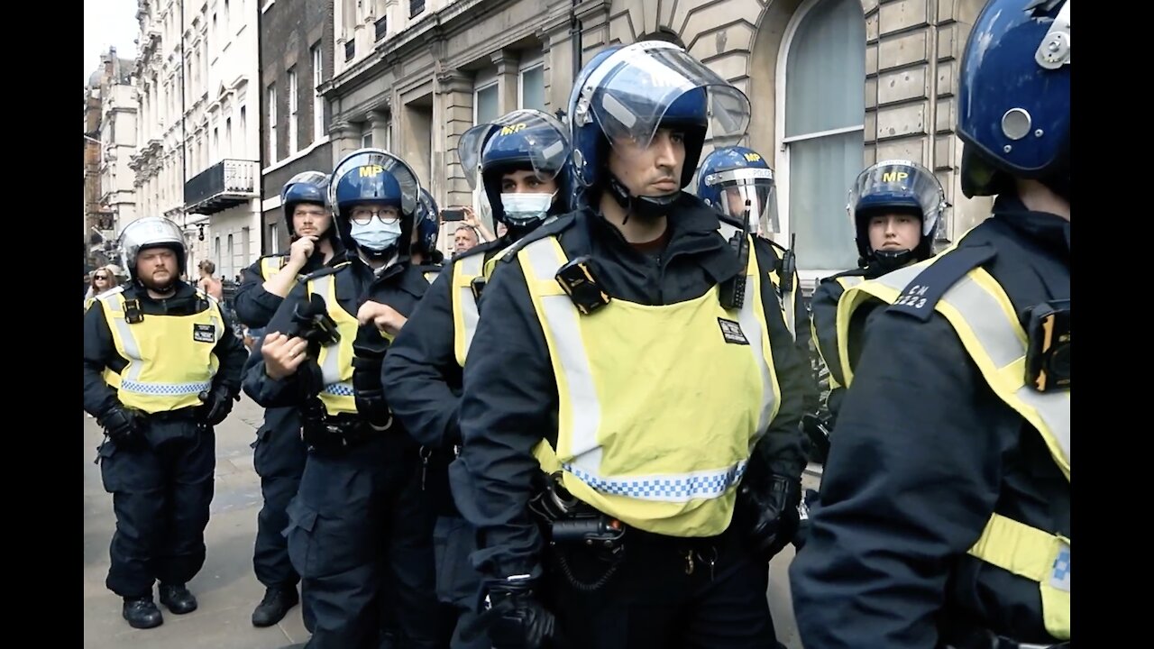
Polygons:
<instances>
[{"instance_id":1,"label":"raised clear visor on the large front officer's helmet","mask_svg":"<svg viewBox=\"0 0 1154 649\"><path fill-rule=\"evenodd\" d=\"M666 114L696 89L705 90L706 105ZM679 118L704 120L702 126L712 126L715 139L740 137L749 126L750 105L741 90L684 50L643 42L617 50L590 74L575 112L578 127L595 119L615 146L628 142L644 149L662 121Z\"/></svg>"}]
</instances>

